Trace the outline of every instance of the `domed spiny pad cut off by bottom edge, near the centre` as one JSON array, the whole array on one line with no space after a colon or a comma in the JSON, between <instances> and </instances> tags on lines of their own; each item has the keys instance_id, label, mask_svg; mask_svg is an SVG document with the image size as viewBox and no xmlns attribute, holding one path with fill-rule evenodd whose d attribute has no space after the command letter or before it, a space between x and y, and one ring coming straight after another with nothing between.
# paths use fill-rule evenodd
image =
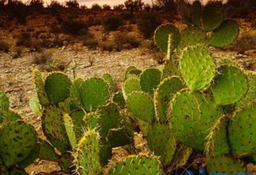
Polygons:
<instances>
[{"instance_id":1,"label":"domed spiny pad cut off by bottom edge, near the centre","mask_svg":"<svg viewBox=\"0 0 256 175\"><path fill-rule=\"evenodd\" d=\"M109 175L162 175L161 167L155 158L147 156L130 156L125 162L119 162L109 172Z\"/></svg>"}]
</instances>

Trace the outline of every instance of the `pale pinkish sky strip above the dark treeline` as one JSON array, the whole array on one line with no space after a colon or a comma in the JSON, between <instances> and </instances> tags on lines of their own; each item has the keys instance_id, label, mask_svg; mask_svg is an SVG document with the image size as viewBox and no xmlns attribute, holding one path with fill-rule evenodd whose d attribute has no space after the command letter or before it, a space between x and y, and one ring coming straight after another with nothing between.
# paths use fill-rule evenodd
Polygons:
<instances>
[{"instance_id":1,"label":"pale pinkish sky strip above the dark treeline","mask_svg":"<svg viewBox=\"0 0 256 175\"><path fill-rule=\"evenodd\" d=\"M58 0L58 2L66 2L67 0ZM91 7L92 4L97 3L100 5L109 4L110 6L123 4L126 0L77 0L80 5L86 5L87 7ZM46 0L46 3L50 3L51 0ZM145 4L151 4L151 0L142 0Z\"/></svg>"}]
</instances>

